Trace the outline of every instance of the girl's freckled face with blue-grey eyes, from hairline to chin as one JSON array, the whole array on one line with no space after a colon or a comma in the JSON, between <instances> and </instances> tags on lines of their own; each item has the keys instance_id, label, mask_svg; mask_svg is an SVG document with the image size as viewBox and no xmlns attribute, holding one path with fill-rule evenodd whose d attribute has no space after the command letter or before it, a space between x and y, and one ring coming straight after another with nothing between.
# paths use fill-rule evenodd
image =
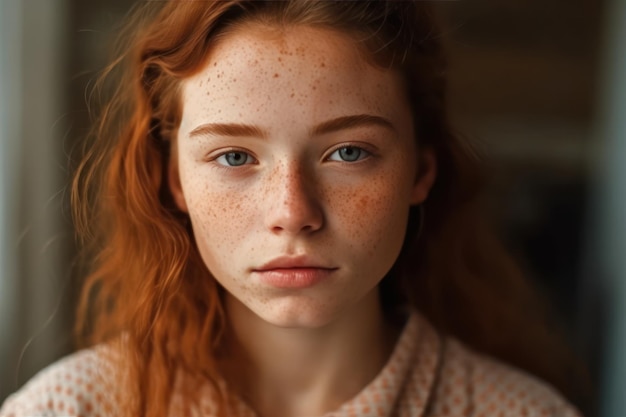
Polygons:
<instances>
[{"instance_id":1,"label":"girl's freckled face with blue-grey eyes, from hairline to chin","mask_svg":"<svg viewBox=\"0 0 626 417\"><path fill-rule=\"evenodd\" d=\"M399 75L345 34L248 26L182 103L169 185L230 303L287 327L375 308L434 175L417 174Z\"/></svg>"}]
</instances>

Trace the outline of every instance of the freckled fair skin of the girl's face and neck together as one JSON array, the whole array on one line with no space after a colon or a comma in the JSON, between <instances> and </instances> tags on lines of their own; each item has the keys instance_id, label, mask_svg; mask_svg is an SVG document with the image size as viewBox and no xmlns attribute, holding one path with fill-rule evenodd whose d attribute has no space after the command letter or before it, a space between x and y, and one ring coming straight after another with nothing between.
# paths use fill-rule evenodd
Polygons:
<instances>
[{"instance_id":1,"label":"freckled fair skin of the girl's face and neck together","mask_svg":"<svg viewBox=\"0 0 626 417\"><path fill-rule=\"evenodd\" d=\"M402 79L345 34L247 25L184 80L182 103L169 186L226 289L223 373L261 415L331 411L391 352L378 283L435 177ZM356 115L370 121L319 129ZM258 271L277 257L315 279L268 284Z\"/></svg>"}]
</instances>

